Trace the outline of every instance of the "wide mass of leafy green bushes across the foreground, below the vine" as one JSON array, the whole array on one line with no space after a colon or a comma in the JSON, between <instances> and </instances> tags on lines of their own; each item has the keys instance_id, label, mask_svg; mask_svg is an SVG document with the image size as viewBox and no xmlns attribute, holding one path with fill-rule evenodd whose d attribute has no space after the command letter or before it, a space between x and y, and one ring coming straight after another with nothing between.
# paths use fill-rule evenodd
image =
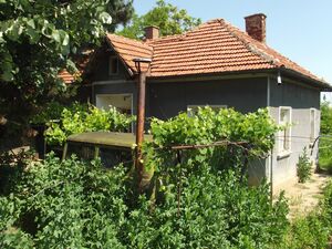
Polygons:
<instances>
[{"instance_id":1,"label":"wide mass of leafy green bushes across the foreground, below the vine","mask_svg":"<svg viewBox=\"0 0 332 249\"><path fill-rule=\"evenodd\" d=\"M1 248L269 248L287 226L282 197L208 165L151 203L126 205L124 170L52 155L0 197Z\"/></svg>"}]
</instances>

